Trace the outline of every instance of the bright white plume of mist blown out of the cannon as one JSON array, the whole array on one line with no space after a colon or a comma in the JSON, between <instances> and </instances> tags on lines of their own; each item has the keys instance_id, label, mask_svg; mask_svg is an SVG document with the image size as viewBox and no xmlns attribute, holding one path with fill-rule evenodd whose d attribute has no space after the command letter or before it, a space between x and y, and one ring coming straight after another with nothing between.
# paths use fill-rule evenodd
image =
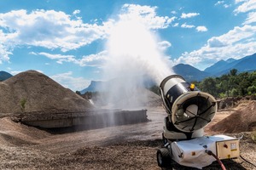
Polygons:
<instances>
[{"instance_id":1,"label":"bright white plume of mist blown out of the cannon","mask_svg":"<svg viewBox=\"0 0 256 170\"><path fill-rule=\"evenodd\" d=\"M120 20L108 42L104 77L112 108L137 108L147 102L143 84L148 77L155 85L172 74L170 60L160 51L154 33L137 20Z\"/></svg>"}]
</instances>

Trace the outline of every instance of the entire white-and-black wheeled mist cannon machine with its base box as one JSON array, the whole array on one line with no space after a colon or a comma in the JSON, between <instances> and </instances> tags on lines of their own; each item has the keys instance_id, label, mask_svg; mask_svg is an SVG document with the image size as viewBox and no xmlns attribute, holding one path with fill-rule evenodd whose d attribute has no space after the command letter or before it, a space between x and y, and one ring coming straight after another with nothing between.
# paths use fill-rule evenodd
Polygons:
<instances>
[{"instance_id":1,"label":"entire white-and-black wheeled mist cannon machine with its base box","mask_svg":"<svg viewBox=\"0 0 256 170\"><path fill-rule=\"evenodd\" d=\"M203 127L217 112L217 101L183 77L172 75L160 83L167 116L162 133L164 146L157 150L159 167L172 167L173 161L186 167L202 168L240 155L239 139L226 135L204 136Z\"/></svg>"}]
</instances>

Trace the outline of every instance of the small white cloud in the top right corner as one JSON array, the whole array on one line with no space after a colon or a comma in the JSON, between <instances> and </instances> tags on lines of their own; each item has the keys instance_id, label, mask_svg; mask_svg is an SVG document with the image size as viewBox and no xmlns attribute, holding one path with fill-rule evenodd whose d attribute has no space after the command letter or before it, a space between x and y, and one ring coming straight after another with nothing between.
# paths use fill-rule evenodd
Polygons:
<instances>
[{"instance_id":1,"label":"small white cloud in the top right corner","mask_svg":"<svg viewBox=\"0 0 256 170\"><path fill-rule=\"evenodd\" d=\"M256 9L256 1L255 0L236 0L236 3L241 3L234 12L238 13L246 13L253 9Z\"/></svg>"}]
</instances>

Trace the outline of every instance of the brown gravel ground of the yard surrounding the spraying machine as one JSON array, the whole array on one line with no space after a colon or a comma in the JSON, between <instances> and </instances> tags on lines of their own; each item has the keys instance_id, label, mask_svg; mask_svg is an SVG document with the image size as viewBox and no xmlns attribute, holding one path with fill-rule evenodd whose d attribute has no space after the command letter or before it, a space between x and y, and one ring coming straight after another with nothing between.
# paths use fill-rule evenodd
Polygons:
<instances>
[{"instance_id":1,"label":"brown gravel ground of the yard surrounding the spraying machine","mask_svg":"<svg viewBox=\"0 0 256 170\"><path fill-rule=\"evenodd\" d=\"M230 115L228 112L221 111L215 118L221 120ZM165 116L165 111L156 108L148 110L150 122L63 134L47 133L2 118L0 169L160 169L156 151L162 144ZM211 131L211 126L206 132L217 133ZM252 134L227 135L243 136L241 156L255 163L256 144ZM241 158L224 161L224 165L227 169L256 169ZM175 169L192 168L176 166ZM221 168L213 162L204 169Z\"/></svg>"}]
</instances>

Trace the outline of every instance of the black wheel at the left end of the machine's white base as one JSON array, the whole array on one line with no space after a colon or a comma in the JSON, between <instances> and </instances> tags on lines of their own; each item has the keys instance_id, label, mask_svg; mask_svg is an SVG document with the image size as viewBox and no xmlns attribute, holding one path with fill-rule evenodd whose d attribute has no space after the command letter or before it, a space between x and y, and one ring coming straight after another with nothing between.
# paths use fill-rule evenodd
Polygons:
<instances>
[{"instance_id":1,"label":"black wheel at the left end of the machine's white base","mask_svg":"<svg viewBox=\"0 0 256 170\"><path fill-rule=\"evenodd\" d=\"M168 167L171 157L167 148L160 148L156 152L157 163L159 167Z\"/></svg>"}]
</instances>

